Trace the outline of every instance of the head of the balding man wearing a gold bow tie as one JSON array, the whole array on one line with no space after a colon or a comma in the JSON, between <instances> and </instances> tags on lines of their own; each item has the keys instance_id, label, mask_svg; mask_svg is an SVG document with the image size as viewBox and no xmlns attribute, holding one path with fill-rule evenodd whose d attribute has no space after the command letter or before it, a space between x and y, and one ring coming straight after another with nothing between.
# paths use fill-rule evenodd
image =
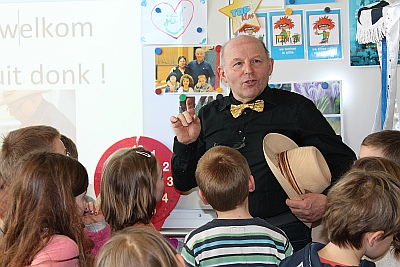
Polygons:
<instances>
[{"instance_id":1,"label":"head of the balding man wearing a gold bow tie","mask_svg":"<svg viewBox=\"0 0 400 267\"><path fill-rule=\"evenodd\" d=\"M218 67L222 80L228 83L236 100L247 103L260 95L268 85L274 60L254 37L241 35L224 48L222 66Z\"/></svg>"}]
</instances>

